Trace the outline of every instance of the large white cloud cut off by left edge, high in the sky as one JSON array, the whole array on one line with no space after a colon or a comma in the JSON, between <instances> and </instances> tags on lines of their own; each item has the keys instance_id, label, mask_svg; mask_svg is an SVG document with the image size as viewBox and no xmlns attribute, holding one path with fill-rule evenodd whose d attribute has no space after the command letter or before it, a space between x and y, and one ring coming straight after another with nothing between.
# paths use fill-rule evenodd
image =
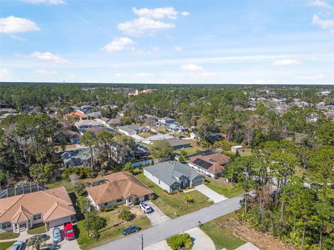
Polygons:
<instances>
[{"instance_id":1,"label":"large white cloud cut off by left edge, high in the sky","mask_svg":"<svg viewBox=\"0 0 334 250\"><path fill-rule=\"evenodd\" d=\"M40 27L29 19L14 16L0 18L0 33L12 34L39 30Z\"/></svg>"}]
</instances>

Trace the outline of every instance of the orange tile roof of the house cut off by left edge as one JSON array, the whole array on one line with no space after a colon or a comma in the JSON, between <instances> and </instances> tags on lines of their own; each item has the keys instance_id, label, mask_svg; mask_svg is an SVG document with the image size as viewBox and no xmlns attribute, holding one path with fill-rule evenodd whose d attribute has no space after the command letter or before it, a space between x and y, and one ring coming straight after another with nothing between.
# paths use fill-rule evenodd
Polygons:
<instances>
[{"instance_id":1,"label":"orange tile roof of the house cut off by left edge","mask_svg":"<svg viewBox=\"0 0 334 250\"><path fill-rule=\"evenodd\" d=\"M40 213L44 222L75 215L66 189L60 187L0 199L0 223L23 222Z\"/></svg>"}]
</instances>

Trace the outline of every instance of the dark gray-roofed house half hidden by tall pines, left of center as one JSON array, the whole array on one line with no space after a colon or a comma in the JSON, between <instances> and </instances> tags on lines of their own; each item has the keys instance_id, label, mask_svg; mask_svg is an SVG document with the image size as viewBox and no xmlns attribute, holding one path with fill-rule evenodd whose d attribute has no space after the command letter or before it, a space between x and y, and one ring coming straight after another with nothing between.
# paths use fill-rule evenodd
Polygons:
<instances>
[{"instance_id":1,"label":"dark gray-roofed house half hidden by tall pines, left of center","mask_svg":"<svg viewBox=\"0 0 334 250\"><path fill-rule=\"evenodd\" d=\"M61 159L66 167L89 167L91 165L90 149L64 151Z\"/></svg>"}]
</instances>

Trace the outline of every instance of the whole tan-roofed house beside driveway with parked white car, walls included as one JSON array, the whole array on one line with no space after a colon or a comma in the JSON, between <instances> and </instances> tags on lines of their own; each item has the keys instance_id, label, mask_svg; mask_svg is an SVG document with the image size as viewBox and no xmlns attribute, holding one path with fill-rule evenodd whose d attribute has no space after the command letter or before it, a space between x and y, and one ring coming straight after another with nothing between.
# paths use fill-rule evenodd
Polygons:
<instances>
[{"instance_id":1,"label":"whole tan-roofed house beside driveway with parked white car, walls included","mask_svg":"<svg viewBox=\"0 0 334 250\"><path fill-rule=\"evenodd\" d=\"M124 203L129 206L134 200L145 201L153 194L150 188L126 171L104 176L103 180L87 188L87 192L97 210Z\"/></svg>"}]
</instances>

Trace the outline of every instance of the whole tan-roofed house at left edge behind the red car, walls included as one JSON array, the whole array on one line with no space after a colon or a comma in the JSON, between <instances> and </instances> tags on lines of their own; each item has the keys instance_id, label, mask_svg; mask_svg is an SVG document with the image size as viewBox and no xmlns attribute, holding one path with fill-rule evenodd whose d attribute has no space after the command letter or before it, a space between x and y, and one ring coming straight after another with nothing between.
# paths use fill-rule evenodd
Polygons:
<instances>
[{"instance_id":1,"label":"whole tan-roofed house at left edge behind the red car, walls included","mask_svg":"<svg viewBox=\"0 0 334 250\"><path fill-rule=\"evenodd\" d=\"M65 187L0 199L0 231L28 230L45 223L47 230L71 221L75 215Z\"/></svg>"}]
</instances>

